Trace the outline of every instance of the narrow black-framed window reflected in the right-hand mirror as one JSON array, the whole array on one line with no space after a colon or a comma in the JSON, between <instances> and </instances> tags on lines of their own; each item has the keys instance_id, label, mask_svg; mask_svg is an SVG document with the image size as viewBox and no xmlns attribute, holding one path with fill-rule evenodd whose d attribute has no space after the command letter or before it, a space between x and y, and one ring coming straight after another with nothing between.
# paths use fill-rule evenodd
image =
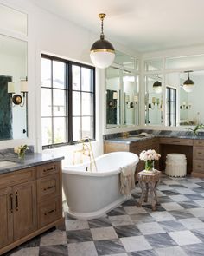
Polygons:
<instances>
[{"instance_id":1,"label":"narrow black-framed window reflected in the right-hand mirror","mask_svg":"<svg viewBox=\"0 0 204 256\"><path fill-rule=\"evenodd\" d=\"M166 88L166 125L176 126L176 89Z\"/></svg>"}]
</instances>

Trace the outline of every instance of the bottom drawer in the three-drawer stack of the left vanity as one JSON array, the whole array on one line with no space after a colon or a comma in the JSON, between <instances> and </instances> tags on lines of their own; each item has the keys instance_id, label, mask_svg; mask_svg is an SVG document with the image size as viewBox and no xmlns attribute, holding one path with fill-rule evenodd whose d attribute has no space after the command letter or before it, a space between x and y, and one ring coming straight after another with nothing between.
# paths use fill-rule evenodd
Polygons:
<instances>
[{"instance_id":1,"label":"bottom drawer in the three-drawer stack of the left vanity","mask_svg":"<svg viewBox=\"0 0 204 256\"><path fill-rule=\"evenodd\" d=\"M38 205L38 226L46 226L61 218L61 197L48 200Z\"/></svg>"}]
</instances>

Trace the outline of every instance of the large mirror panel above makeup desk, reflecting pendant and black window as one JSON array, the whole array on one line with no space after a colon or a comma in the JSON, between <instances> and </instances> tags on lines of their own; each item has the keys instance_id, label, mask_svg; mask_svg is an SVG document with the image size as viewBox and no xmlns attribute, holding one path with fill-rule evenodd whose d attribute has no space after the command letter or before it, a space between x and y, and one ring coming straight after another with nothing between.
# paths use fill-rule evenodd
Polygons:
<instances>
[{"instance_id":1,"label":"large mirror panel above makeup desk, reflecting pendant and black window","mask_svg":"<svg viewBox=\"0 0 204 256\"><path fill-rule=\"evenodd\" d=\"M191 88L185 87L188 76L194 82ZM203 123L204 110L201 102L204 95L204 70L169 73L165 81L165 125L194 126Z\"/></svg>"}]
</instances>

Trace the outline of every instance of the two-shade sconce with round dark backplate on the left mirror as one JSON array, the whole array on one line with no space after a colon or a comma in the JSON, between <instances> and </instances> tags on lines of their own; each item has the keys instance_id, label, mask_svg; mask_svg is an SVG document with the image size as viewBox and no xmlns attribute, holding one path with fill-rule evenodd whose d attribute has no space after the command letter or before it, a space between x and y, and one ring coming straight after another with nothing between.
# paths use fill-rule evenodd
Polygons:
<instances>
[{"instance_id":1,"label":"two-shade sconce with round dark backplate on the left mirror","mask_svg":"<svg viewBox=\"0 0 204 256\"><path fill-rule=\"evenodd\" d=\"M10 101L14 103L13 107L19 105L23 107L26 101L26 97L28 95L28 80L27 77L24 80L21 80L21 92L22 95L15 95L15 82L8 82L8 94L10 95ZM23 98L23 99L22 99Z\"/></svg>"}]
</instances>

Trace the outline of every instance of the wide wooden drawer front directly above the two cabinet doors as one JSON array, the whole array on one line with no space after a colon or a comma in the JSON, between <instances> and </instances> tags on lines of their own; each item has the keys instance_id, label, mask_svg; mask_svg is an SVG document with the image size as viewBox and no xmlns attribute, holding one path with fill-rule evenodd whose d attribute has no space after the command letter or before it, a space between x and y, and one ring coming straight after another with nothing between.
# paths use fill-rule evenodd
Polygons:
<instances>
[{"instance_id":1,"label":"wide wooden drawer front directly above the two cabinet doors","mask_svg":"<svg viewBox=\"0 0 204 256\"><path fill-rule=\"evenodd\" d=\"M35 180L35 167L18 170L10 174L1 174L0 188L10 187L27 181Z\"/></svg>"}]
</instances>

